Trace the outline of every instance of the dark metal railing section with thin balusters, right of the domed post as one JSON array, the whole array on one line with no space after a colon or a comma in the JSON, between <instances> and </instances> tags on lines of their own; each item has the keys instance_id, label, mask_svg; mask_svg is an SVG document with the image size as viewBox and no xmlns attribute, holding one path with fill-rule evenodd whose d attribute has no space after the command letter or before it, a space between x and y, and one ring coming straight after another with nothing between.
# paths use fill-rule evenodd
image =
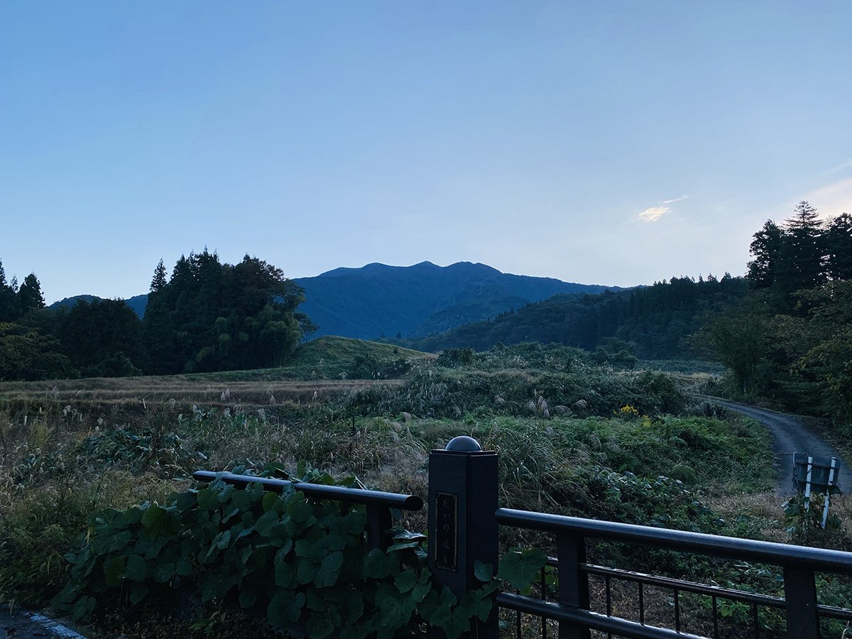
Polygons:
<instances>
[{"instance_id":1,"label":"dark metal railing section with thin balusters, right of the domed post","mask_svg":"<svg viewBox=\"0 0 852 639\"><path fill-rule=\"evenodd\" d=\"M561 515L545 515L526 510L498 509L496 518L504 526L521 527L554 533L556 558L548 565L559 571L558 601L546 601L545 568L541 574L542 599L501 593L497 602L501 607L542 618L542 636L546 639L546 619L560 622L561 639L589 637L590 630L610 635L641 637L642 639L672 639L694 637L682 632L680 597L682 592L711 597L713 636L719 635L717 601L719 599L746 603L751 606L751 625L754 636L760 636L758 607L780 608L785 611L787 636L790 639L816 639L820 636L820 617L852 620L852 610L821 605L816 599L815 573L837 573L852 576L852 553L838 550L807 548L788 544L722 537L704 533L690 533L665 528L633 526L613 521L593 521ZM696 584L682 579L671 579L636 573L618 568L603 567L585 561L585 540L595 538L612 542L642 544L665 550L679 550L702 556L759 561L783 569L785 597L762 595L743 590ZM606 613L590 610L589 576L604 580ZM638 619L613 616L611 580L619 579L638 584ZM644 588L653 585L673 592L675 628L661 628L645 624ZM520 624L520 616L518 617ZM519 625L520 630L520 625Z\"/></svg>"}]
</instances>

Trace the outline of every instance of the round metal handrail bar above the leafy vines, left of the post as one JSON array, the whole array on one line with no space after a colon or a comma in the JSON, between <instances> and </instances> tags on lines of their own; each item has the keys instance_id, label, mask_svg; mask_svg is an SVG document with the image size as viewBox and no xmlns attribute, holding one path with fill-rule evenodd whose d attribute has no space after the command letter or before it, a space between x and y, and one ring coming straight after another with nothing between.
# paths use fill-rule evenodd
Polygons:
<instances>
[{"instance_id":1,"label":"round metal handrail bar above the leafy vines, left of the post","mask_svg":"<svg viewBox=\"0 0 852 639\"><path fill-rule=\"evenodd\" d=\"M361 488L348 488L346 486L326 486L325 484L311 484L307 481L282 480L273 477L257 477L256 475L234 475L228 472L216 473L212 470L197 470L193 473L193 479L198 481L210 482L219 478L227 481L228 484L233 484L233 486L239 486L240 488L245 488L251 483L257 483L262 484L267 490L281 492L285 487L292 486L297 491L304 492L308 497L400 510L419 510L423 508L423 499L416 495L368 491Z\"/></svg>"}]
</instances>

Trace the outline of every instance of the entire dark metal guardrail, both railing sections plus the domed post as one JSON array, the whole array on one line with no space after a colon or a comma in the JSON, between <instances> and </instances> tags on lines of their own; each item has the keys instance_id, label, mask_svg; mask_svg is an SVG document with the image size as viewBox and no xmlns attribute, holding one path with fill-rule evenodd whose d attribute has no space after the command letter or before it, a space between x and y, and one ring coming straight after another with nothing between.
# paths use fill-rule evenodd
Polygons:
<instances>
[{"instance_id":1,"label":"entire dark metal guardrail, both railing sections plus the domed post","mask_svg":"<svg viewBox=\"0 0 852 639\"><path fill-rule=\"evenodd\" d=\"M613 521L595 521L578 517L546 515L527 510L498 509L497 453L480 449L475 440L458 437L446 450L429 455L429 570L438 584L449 587L459 599L478 587L475 561L496 565L498 561L498 525L552 533L556 537L556 557L549 561L558 574L557 601L545 601L544 568L542 598L500 593L498 606L486 622L476 621L471 636L495 639L498 634L498 607L517 613L521 636L521 613L542 619L541 633L547 635L545 619L559 622L560 639L588 639L597 630L628 639L683 639L696 637L682 631L681 593L711 597L713 636L719 635L717 601L728 600L751 606L752 630L760 636L758 607L784 610L786 636L789 639L818 639L820 617L852 621L852 609L821 605L817 601L816 573L837 573L852 577L852 553L751 539L722 537L657 527L633 526ZM367 544L387 550L394 531L391 510L418 510L423 499L412 495L366 491L343 486L325 486L299 481L268 479L253 475L232 475L199 470L199 481L221 478L229 484L245 487L261 483L268 490L281 492L287 486L308 497L333 499L366 505ZM696 584L662 575L637 573L622 568L596 566L586 561L586 541L639 544L663 550L676 550L699 556L714 556L740 561L757 561L782 568L784 597ZM590 608L590 576L602 578L606 590L606 611ZM611 581L638 584L638 618L614 616ZM674 628L646 624L644 588L672 590Z\"/></svg>"}]
</instances>

